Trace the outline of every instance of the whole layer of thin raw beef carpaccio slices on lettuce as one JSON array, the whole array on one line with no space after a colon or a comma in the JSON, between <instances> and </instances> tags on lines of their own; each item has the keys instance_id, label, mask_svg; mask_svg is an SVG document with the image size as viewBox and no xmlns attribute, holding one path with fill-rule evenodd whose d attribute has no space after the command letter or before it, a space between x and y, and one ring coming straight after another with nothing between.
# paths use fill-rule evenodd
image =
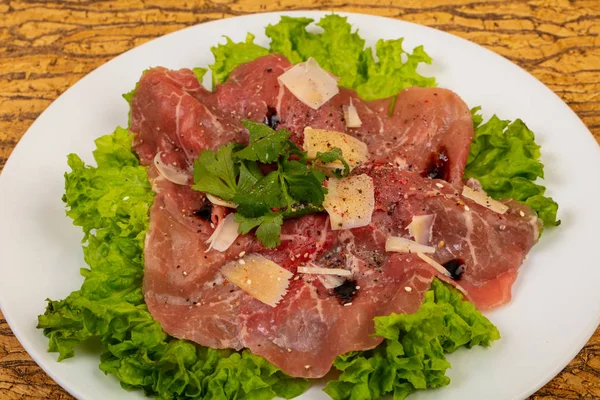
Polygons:
<instances>
[{"instance_id":1,"label":"whole layer of thin raw beef carpaccio slices on lettuce","mask_svg":"<svg viewBox=\"0 0 600 400\"><path fill-rule=\"evenodd\" d=\"M134 149L156 192L145 246L144 295L153 317L170 335L214 348L249 348L291 376L325 375L340 354L377 346L373 318L412 313L434 277L459 285L479 309L510 300L519 266L538 237L526 206L507 201L495 213L461 196L473 139L471 114L453 92L409 88L391 99L365 102L352 90L313 110L277 77L290 68L278 55L238 67L214 92L190 70L147 71L132 100ZM342 106L350 98L362 125L347 128ZM368 146L370 159L353 171L373 179L375 210L368 226L331 230L325 213L284 222L281 245L266 249L254 235L239 236L225 252L206 240L228 212L203 193L164 179L164 162L191 170L203 149L248 142L241 120L264 121L292 132L302 146L305 127L345 132ZM190 179L191 181L191 179ZM191 183L191 182L190 182ZM435 261L448 277L416 254L385 251L390 235L407 236L414 216L434 215ZM229 261L259 253L294 274L276 307L263 304L220 272ZM326 289L307 263L344 268L352 279Z\"/></svg>"}]
</instances>

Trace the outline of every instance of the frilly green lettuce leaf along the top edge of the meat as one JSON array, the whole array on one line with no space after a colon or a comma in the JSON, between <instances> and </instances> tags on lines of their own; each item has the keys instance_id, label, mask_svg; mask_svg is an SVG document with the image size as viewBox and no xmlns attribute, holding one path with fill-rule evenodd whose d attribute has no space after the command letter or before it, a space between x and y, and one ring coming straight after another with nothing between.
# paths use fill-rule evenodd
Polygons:
<instances>
[{"instance_id":1,"label":"frilly green lettuce leaf along the top edge of the meat","mask_svg":"<svg viewBox=\"0 0 600 400\"><path fill-rule=\"evenodd\" d=\"M364 39L358 31L352 32L346 17L336 14L323 17L316 23L322 33L307 30L312 22L310 18L281 17L280 22L266 29L271 39L269 49L256 45L251 35L246 42L234 43L228 39L226 44L213 48L213 83L225 82L229 73L242 63L279 53L294 64L313 57L321 67L340 78L340 86L356 90L364 100L395 96L410 86L436 85L435 78L417 72L420 63L431 63L422 46L407 53L402 48L402 39L379 40L375 46L378 61L375 61L373 49L365 48Z\"/></svg>"}]
</instances>

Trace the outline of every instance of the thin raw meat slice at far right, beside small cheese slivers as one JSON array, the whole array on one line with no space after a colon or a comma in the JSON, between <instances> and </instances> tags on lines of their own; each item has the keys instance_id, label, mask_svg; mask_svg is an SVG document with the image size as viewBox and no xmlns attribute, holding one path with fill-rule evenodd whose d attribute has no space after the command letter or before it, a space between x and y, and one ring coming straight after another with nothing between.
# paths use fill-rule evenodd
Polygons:
<instances>
[{"instance_id":1,"label":"thin raw meat slice at far right, beside small cheese slivers","mask_svg":"<svg viewBox=\"0 0 600 400\"><path fill-rule=\"evenodd\" d=\"M509 211L498 214L461 196L462 184L423 179L389 164L371 164L356 173L373 178L374 214L378 229L410 238L406 227L413 216L434 215L430 257L444 265L482 310L510 301L511 287L525 255L538 239L538 218L525 205L507 201Z\"/></svg>"}]
</instances>

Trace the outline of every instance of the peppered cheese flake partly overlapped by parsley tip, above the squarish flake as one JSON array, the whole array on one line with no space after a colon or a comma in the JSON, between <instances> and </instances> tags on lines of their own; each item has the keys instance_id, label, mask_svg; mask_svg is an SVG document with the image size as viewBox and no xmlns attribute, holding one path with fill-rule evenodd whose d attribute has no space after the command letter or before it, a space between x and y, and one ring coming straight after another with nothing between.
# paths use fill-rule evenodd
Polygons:
<instances>
[{"instance_id":1,"label":"peppered cheese flake partly overlapped by parsley tip, above the squarish flake","mask_svg":"<svg viewBox=\"0 0 600 400\"><path fill-rule=\"evenodd\" d=\"M317 153L325 153L334 147L338 147L342 151L344 160L350 169L369 159L367 144L355 137L337 131L313 129L310 126L304 128L304 150L309 158L315 158ZM325 167L331 170L344 168L339 161L326 164Z\"/></svg>"}]
</instances>

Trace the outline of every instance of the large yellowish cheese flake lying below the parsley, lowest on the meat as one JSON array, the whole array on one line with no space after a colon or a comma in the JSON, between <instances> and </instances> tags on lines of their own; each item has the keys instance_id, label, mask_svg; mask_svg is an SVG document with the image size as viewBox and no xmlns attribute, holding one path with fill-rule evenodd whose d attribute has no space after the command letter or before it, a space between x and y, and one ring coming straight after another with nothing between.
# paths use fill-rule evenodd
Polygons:
<instances>
[{"instance_id":1,"label":"large yellowish cheese flake lying below the parsley, lowest on the meat","mask_svg":"<svg viewBox=\"0 0 600 400\"><path fill-rule=\"evenodd\" d=\"M244 264L237 260L225 264L221 272L250 296L277 306L287 293L293 274L260 254L248 254L243 260Z\"/></svg>"}]
</instances>

